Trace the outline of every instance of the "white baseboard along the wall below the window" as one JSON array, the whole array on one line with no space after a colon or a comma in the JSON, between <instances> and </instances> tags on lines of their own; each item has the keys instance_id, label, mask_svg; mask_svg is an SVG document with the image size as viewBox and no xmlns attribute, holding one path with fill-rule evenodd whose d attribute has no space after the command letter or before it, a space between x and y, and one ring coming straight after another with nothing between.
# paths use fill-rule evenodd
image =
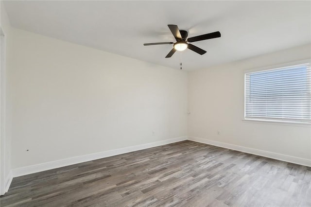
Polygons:
<instances>
[{"instance_id":1,"label":"white baseboard along the wall below the window","mask_svg":"<svg viewBox=\"0 0 311 207\"><path fill-rule=\"evenodd\" d=\"M310 159L304 159L304 158L300 158L300 157L296 157L296 156L290 156L290 155L282 155L282 154L278 154L278 153L253 149L253 148L249 148L249 147L242 147L239 145L228 144L228 143L204 139L204 138L188 137L188 140L311 167L311 160Z\"/></svg>"}]
</instances>

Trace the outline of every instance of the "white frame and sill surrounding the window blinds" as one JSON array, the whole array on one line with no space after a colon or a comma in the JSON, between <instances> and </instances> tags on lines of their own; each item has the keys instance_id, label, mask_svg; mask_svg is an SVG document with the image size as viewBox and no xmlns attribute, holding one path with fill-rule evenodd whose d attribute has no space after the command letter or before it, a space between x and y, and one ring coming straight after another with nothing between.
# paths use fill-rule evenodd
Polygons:
<instances>
[{"instance_id":1,"label":"white frame and sill surrounding the window blinds","mask_svg":"<svg viewBox=\"0 0 311 207\"><path fill-rule=\"evenodd\" d=\"M298 119L282 119L282 118L266 118L266 117L246 117L246 74L253 73L253 72L259 72L259 71L267 71L267 70L275 70L275 69L284 69L291 66L297 66L297 65L306 65L311 64L311 58L310 59L303 59L299 61L274 65L274 66L267 66L262 68L256 68L256 69L248 69L244 70L244 116L243 121L247 122L257 122L257 123L273 123L273 124L282 124L282 125L301 125L301 126L308 126L311 125L311 120L298 120Z\"/></svg>"}]
</instances>

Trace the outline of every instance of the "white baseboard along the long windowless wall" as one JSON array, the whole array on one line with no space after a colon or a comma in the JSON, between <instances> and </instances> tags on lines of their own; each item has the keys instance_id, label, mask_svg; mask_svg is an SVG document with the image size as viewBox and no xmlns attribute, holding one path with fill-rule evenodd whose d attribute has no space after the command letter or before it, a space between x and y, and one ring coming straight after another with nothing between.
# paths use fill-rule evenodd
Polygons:
<instances>
[{"instance_id":1,"label":"white baseboard along the long windowless wall","mask_svg":"<svg viewBox=\"0 0 311 207\"><path fill-rule=\"evenodd\" d=\"M104 151L100 153L94 153L94 154L89 154L89 155L82 155L82 156L76 156L76 157L71 157L67 159L62 159L62 160L56 160L52 162L46 162L46 163L41 163L37 165L32 165L32 166L26 166L26 167L21 167L21 168L16 168L12 170L13 177L18 177L26 174L31 174L31 173L38 173L42 171L47 171L55 168L60 168L60 167L65 167L68 165L74 165L78 164L81 162L87 162L95 159L100 159L104 157L109 157L109 156L114 156L114 155L121 155L124 153L130 153L138 150L143 150L151 147L157 147L165 144L170 144L178 141L184 141L187 140L187 136L185 137L179 137L179 138L171 138L171 139L165 139L161 141L155 141L147 144L140 144L136 146L131 146L131 147L125 147L125 148L120 148L120 149L115 149L115 150L109 150L109 151Z\"/></svg>"}]
</instances>

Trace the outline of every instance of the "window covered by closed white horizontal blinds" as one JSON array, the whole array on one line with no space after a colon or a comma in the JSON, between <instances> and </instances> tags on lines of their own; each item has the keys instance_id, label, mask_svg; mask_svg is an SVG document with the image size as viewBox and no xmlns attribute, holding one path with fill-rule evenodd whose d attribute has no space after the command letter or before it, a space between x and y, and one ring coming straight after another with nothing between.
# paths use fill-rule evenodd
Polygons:
<instances>
[{"instance_id":1,"label":"window covered by closed white horizontal blinds","mask_svg":"<svg viewBox=\"0 0 311 207\"><path fill-rule=\"evenodd\" d=\"M311 123L311 66L245 74L245 119Z\"/></svg>"}]
</instances>

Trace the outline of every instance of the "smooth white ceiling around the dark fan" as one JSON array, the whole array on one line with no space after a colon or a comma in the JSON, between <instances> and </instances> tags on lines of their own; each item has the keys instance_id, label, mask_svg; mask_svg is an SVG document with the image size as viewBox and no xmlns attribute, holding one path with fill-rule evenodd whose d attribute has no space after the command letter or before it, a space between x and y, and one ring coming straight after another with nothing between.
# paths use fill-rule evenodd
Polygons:
<instances>
[{"instance_id":1,"label":"smooth white ceiling around the dark fan","mask_svg":"<svg viewBox=\"0 0 311 207\"><path fill-rule=\"evenodd\" d=\"M11 24L107 52L178 69L180 52L164 58L174 41L167 24L207 51L182 52L183 69L194 70L311 42L311 1L5 1Z\"/></svg>"}]
</instances>

